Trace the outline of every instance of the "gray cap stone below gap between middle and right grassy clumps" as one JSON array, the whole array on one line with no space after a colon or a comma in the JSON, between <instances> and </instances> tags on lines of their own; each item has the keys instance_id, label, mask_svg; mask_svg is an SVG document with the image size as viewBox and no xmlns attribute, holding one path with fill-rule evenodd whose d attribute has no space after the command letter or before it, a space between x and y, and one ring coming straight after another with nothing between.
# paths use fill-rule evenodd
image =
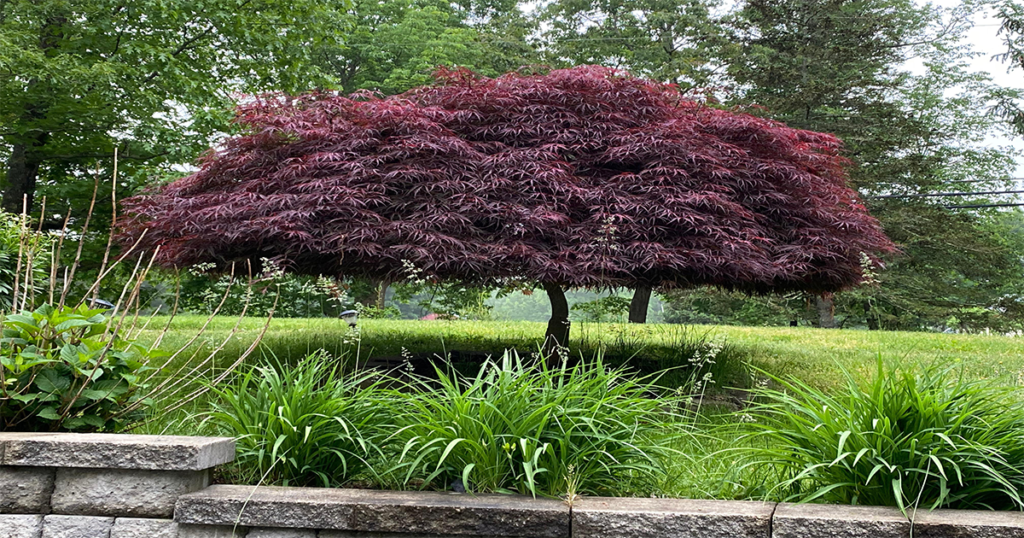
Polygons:
<instances>
[{"instance_id":1,"label":"gray cap stone below gap between middle and right grassy clumps","mask_svg":"<svg viewBox=\"0 0 1024 538\"><path fill-rule=\"evenodd\" d=\"M591 497L572 504L572 538L768 538L774 503Z\"/></svg>"}]
</instances>

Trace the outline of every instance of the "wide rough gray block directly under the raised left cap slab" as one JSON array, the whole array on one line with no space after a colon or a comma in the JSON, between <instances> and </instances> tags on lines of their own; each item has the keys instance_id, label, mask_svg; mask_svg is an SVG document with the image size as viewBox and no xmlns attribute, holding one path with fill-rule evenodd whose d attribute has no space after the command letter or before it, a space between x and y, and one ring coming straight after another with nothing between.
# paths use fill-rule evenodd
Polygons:
<instances>
[{"instance_id":1,"label":"wide rough gray block directly under the raised left cap slab","mask_svg":"<svg viewBox=\"0 0 1024 538\"><path fill-rule=\"evenodd\" d=\"M170 518L179 496L209 483L208 470L62 468L50 505L54 513Z\"/></svg>"}]
</instances>

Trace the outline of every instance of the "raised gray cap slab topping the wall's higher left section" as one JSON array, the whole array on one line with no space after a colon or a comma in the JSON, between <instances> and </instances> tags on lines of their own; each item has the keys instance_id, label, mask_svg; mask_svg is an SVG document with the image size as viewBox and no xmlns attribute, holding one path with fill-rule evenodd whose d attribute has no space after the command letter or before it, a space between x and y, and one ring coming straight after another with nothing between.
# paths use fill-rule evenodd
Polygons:
<instances>
[{"instance_id":1,"label":"raised gray cap slab topping the wall's higher left section","mask_svg":"<svg viewBox=\"0 0 1024 538\"><path fill-rule=\"evenodd\" d=\"M0 432L2 465L204 470L234 459L226 438Z\"/></svg>"}]
</instances>

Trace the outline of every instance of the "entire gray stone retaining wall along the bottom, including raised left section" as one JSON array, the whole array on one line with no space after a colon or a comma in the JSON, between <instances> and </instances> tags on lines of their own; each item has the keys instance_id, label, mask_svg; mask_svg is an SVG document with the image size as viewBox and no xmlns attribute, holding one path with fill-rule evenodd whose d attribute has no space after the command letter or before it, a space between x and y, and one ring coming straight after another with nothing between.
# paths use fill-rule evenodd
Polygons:
<instances>
[{"instance_id":1,"label":"entire gray stone retaining wall along the bottom, including raised left section","mask_svg":"<svg viewBox=\"0 0 1024 538\"><path fill-rule=\"evenodd\" d=\"M1024 513L210 486L228 439L0 432L0 538L1024 538Z\"/></svg>"}]
</instances>

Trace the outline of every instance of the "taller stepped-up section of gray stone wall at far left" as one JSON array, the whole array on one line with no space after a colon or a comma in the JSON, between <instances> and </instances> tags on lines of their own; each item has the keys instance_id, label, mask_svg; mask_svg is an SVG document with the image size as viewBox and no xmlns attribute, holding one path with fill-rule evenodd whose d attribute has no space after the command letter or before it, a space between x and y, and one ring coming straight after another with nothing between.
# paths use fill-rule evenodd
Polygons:
<instances>
[{"instance_id":1,"label":"taller stepped-up section of gray stone wall at far left","mask_svg":"<svg viewBox=\"0 0 1024 538\"><path fill-rule=\"evenodd\" d=\"M229 439L0 432L0 538L177 538Z\"/></svg>"}]
</instances>

